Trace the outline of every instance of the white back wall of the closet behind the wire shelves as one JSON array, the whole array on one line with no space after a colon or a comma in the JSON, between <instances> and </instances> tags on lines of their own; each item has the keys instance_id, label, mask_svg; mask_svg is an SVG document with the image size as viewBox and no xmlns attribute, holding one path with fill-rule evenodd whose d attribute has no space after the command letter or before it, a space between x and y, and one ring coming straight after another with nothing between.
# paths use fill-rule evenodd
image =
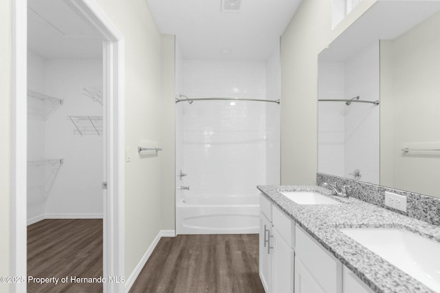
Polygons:
<instances>
[{"instance_id":1,"label":"white back wall of the closet behind the wire shelves","mask_svg":"<svg viewBox=\"0 0 440 293\"><path fill-rule=\"evenodd\" d=\"M83 86L102 89L102 60L47 60L45 76L46 93L64 99L45 126L45 157L64 158L58 173L46 178L45 212L54 218L102 216L102 135L87 121L86 134L74 134L67 120L69 115L102 117L102 105L81 93Z\"/></svg>"}]
</instances>

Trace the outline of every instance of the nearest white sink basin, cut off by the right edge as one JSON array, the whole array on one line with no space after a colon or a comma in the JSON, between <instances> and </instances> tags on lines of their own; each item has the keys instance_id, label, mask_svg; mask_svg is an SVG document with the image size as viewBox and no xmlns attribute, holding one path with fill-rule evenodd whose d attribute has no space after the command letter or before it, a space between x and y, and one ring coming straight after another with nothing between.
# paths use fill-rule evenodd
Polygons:
<instances>
[{"instance_id":1,"label":"nearest white sink basin, cut off by the right edge","mask_svg":"<svg viewBox=\"0 0 440 293\"><path fill-rule=\"evenodd\" d=\"M440 243L399 228L342 228L397 268L440 292Z\"/></svg>"}]
</instances>

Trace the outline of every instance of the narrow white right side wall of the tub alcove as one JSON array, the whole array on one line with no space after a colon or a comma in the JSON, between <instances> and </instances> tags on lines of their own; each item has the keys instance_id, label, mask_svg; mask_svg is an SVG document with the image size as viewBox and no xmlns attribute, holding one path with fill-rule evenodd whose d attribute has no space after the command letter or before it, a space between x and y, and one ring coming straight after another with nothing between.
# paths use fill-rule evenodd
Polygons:
<instances>
[{"instance_id":1,"label":"narrow white right side wall of the tub alcove","mask_svg":"<svg viewBox=\"0 0 440 293\"><path fill-rule=\"evenodd\" d=\"M266 60L266 99L281 99L280 44L277 43ZM280 184L280 105L266 105L266 181L267 185Z\"/></svg>"}]
</instances>

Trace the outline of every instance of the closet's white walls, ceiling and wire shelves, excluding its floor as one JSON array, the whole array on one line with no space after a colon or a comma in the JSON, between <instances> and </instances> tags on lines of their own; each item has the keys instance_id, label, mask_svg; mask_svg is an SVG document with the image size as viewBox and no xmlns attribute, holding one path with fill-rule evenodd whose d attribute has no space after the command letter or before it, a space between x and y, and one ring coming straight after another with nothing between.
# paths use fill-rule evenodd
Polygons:
<instances>
[{"instance_id":1,"label":"closet's white walls, ceiling and wire shelves, excluding its floor","mask_svg":"<svg viewBox=\"0 0 440 293\"><path fill-rule=\"evenodd\" d=\"M102 218L102 40L65 1L28 1L28 224Z\"/></svg>"}]
</instances>

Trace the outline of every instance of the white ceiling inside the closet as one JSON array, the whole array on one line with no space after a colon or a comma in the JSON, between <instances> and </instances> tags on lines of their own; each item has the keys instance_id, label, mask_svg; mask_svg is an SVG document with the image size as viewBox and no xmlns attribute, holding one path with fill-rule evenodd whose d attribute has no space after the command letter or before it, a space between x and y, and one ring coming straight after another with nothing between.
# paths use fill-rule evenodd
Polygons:
<instances>
[{"instance_id":1,"label":"white ceiling inside the closet","mask_svg":"<svg viewBox=\"0 0 440 293\"><path fill-rule=\"evenodd\" d=\"M102 58L102 38L65 0L28 0L28 49L45 59Z\"/></svg>"}]
</instances>

